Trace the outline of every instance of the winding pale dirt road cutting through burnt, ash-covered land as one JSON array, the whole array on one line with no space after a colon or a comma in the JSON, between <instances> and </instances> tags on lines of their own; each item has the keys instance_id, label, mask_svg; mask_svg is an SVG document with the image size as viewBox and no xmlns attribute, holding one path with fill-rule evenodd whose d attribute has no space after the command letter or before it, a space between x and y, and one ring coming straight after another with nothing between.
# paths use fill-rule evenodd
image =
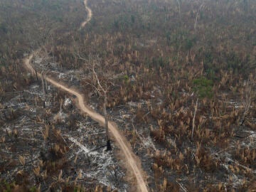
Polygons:
<instances>
[{"instance_id":1,"label":"winding pale dirt road cutting through burnt, ash-covered land","mask_svg":"<svg viewBox=\"0 0 256 192\"><path fill-rule=\"evenodd\" d=\"M81 28L85 27L86 23L90 21L92 18L92 10L87 6L87 0L84 1L85 4L85 9L87 11L87 18L84 22L81 24ZM33 58L33 53L29 55L28 58L25 58L23 61L25 67L27 70L31 71L33 75L36 75L35 70L33 69L31 65L31 60ZM41 78L41 74L38 74L38 77ZM76 90L70 89L68 86L56 82L52 78L46 78L48 82L50 82L52 85L55 87L60 88L61 90L65 90L66 92L70 93L71 95L75 95L78 99L77 106L82 110L82 112L87 113L92 119L94 119L96 122L99 122L100 124L105 123L105 118L101 115L98 114L95 111L90 110L88 107L85 106L84 102L84 97L82 94ZM142 192L148 192L146 188L146 182L144 181L143 177L143 170L140 167L140 161L137 160L137 157L134 155L132 152L131 147L129 146L129 143L127 142L127 139L122 136L122 134L119 132L117 126L114 125L113 122L109 122L109 132L114 138L117 146L119 149L121 149L121 153L123 154L123 157L125 158L125 166L127 168L128 172L132 172L133 178L136 178L137 181L137 191L142 191Z\"/></svg>"}]
</instances>

